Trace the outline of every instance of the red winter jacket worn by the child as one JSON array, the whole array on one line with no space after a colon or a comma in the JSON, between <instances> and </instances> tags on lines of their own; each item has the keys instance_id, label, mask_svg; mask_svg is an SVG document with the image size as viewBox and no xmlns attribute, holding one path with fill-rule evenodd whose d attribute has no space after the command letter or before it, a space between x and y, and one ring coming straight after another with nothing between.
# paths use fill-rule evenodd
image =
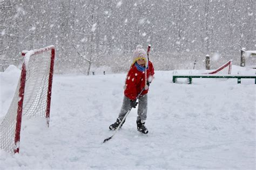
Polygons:
<instances>
[{"instance_id":1,"label":"red winter jacket worn by the child","mask_svg":"<svg viewBox=\"0 0 256 170\"><path fill-rule=\"evenodd\" d=\"M147 80L149 80L149 76L154 75L154 67L151 62L149 62L149 68L146 72ZM139 92L142 91L143 87L145 87L145 72L139 71L133 64L127 74L125 85L124 95L131 100L135 100ZM146 94L148 91L148 89L144 90L141 96Z\"/></svg>"}]
</instances>

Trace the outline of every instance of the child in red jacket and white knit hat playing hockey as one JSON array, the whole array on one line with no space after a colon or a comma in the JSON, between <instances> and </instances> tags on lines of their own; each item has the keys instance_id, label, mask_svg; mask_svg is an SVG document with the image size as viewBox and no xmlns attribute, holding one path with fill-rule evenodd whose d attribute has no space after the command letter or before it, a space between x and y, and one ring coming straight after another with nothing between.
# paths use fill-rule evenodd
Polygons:
<instances>
[{"instance_id":1,"label":"child in red jacket and white knit hat playing hockey","mask_svg":"<svg viewBox=\"0 0 256 170\"><path fill-rule=\"evenodd\" d=\"M149 85L153 79L154 67L153 64L147 60L146 55L142 45L137 45L136 50L133 52L133 63L125 81L123 105L117 121L109 126L110 130L115 130L125 117L126 112L129 111L131 107L136 108L137 104L139 104L136 121L137 130L145 134L149 132L145 126L145 120L147 118L147 92L149 91ZM136 98L141 91L142 93L138 98L139 102L136 102ZM120 126L123 126L124 123L125 120Z\"/></svg>"}]
</instances>

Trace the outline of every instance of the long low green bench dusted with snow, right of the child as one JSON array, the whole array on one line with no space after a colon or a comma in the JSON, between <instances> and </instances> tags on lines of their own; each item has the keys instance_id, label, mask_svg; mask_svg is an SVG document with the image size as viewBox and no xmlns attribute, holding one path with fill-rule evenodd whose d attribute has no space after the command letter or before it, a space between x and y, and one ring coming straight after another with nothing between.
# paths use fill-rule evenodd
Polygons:
<instances>
[{"instance_id":1,"label":"long low green bench dusted with snow, right of the child","mask_svg":"<svg viewBox=\"0 0 256 170\"><path fill-rule=\"evenodd\" d=\"M203 74L203 75L173 75L172 82L176 83L177 78L188 78L188 83L192 84L192 78L237 78L237 83L241 83L241 78L254 78L256 84L256 75L255 76L242 76L242 75L217 75L217 74Z\"/></svg>"}]
</instances>

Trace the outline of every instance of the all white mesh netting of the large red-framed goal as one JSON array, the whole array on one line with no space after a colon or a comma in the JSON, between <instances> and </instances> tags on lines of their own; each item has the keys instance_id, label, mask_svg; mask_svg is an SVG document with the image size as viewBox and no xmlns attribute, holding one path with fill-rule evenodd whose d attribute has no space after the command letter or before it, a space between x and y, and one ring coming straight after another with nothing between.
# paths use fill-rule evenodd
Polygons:
<instances>
[{"instance_id":1,"label":"all white mesh netting of the large red-framed goal","mask_svg":"<svg viewBox=\"0 0 256 170\"><path fill-rule=\"evenodd\" d=\"M26 64L23 116L46 116L50 63L51 50L29 56L29 62ZM9 110L0 122L1 149L11 153L14 153L14 149L17 147L15 144L15 135L20 81L18 82Z\"/></svg>"}]
</instances>

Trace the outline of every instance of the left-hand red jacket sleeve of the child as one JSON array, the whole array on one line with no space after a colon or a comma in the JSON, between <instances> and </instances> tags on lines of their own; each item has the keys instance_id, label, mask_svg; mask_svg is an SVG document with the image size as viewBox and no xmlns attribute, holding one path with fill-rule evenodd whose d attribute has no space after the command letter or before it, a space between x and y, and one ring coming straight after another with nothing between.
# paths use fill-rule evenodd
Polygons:
<instances>
[{"instance_id":1,"label":"left-hand red jacket sleeve of the child","mask_svg":"<svg viewBox=\"0 0 256 170\"><path fill-rule=\"evenodd\" d=\"M133 69L127 74L126 81L125 81L125 91L124 94L127 98L131 100L136 100L137 97L137 89L136 89L136 73Z\"/></svg>"}]
</instances>

